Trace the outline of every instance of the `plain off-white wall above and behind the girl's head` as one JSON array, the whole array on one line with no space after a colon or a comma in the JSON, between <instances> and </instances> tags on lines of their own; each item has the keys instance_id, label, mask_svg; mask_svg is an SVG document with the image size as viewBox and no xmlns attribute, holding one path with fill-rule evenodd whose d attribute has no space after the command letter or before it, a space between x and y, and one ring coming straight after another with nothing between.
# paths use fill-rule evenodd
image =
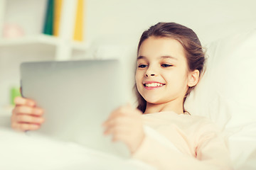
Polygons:
<instances>
[{"instance_id":1,"label":"plain off-white wall above and behind the girl's head","mask_svg":"<svg viewBox=\"0 0 256 170\"><path fill-rule=\"evenodd\" d=\"M255 0L87 0L87 38L138 39L157 22L176 22L195 30L206 43L229 33L229 25L256 26L255 6Z\"/></svg>"}]
</instances>

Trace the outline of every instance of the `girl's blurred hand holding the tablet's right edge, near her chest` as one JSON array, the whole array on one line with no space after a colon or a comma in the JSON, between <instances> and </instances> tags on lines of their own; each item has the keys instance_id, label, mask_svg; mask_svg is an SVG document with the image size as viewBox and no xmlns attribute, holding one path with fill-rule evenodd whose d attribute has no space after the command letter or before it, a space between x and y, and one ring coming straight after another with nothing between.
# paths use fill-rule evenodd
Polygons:
<instances>
[{"instance_id":1,"label":"girl's blurred hand holding the tablet's right edge, near her chest","mask_svg":"<svg viewBox=\"0 0 256 170\"><path fill-rule=\"evenodd\" d=\"M105 135L112 135L113 141L122 141L134 153L144 140L142 112L132 106L122 106L110 114L103 123Z\"/></svg>"}]
</instances>

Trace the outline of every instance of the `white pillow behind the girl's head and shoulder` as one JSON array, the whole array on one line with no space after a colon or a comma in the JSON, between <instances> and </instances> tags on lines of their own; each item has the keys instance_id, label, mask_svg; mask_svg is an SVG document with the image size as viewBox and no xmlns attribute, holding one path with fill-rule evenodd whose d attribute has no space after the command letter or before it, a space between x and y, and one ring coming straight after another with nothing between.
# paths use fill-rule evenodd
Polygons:
<instances>
[{"instance_id":1,"label":"white pillow behind the girl's head and shoulder","mask_svg":"<svg viewBox=\"0 0 256 170\"><path fill-rule=\"evenodd\" d=\"M206 47L206 72L186 99L186 110L223 128L256 123L256 29Z\"/></svg>"}]
</instances>

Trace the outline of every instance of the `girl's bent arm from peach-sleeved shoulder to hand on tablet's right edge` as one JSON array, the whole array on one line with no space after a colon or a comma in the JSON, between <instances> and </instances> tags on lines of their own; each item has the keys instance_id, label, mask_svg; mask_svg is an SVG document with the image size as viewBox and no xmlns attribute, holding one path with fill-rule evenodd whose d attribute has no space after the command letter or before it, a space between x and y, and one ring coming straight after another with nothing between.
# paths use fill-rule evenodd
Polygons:
<instances>
[{"instance_id":1,"label":"girl's bent arm from peach-sleeved shoulder to hand on tablet's right edge","mask_svg":"<svg viewBox=\"0 0 256 170\"><path fill-rule=\"evenodd\" d=\"M118 108L110 114L104 125L105 134L112 135L113 140L124 142L133 158L157 169L232 169L225 141L211 123L195 126L197 135L193 139L196 139L196 158L163 145L163 142L146 134L142 113L131 106ZM169 131L169 128L173 127L167 125L166 130Z\"/></svg>"}]
</instances>

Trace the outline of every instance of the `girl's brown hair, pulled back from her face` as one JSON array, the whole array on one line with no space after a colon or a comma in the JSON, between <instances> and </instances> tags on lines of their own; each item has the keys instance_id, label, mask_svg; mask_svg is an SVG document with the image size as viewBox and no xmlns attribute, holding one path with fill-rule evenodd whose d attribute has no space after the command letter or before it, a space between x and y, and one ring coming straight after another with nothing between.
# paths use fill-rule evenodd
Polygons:
<instances>
[{"instance_id":1,"label":"girl's brown hair, pulled back from her face","mask_svg":"<svg viewBox=\"0 0 256 170\"><path fill-rule=\"evenodd\" d=\"M137 55L139 55L139 48L142 45L142 42L147 38L154 36L157 38L172 38L174 40L178 40L184 48L186 54L186 61L188 64L188 71L194 71L198 69L199 77L201 72L203 72L203 64L205 62L205 53L203 52L203 48L200 40L196 33L193 32L190 28L186 26L182 26L178 23L157 23L154 26L151 26L148 30L145 30L142 33L142 37L139 40L139 45L137 48ZM190 94L193 87L188 87L188 91L186 91L186 95L183 98L183 112L186 112L184 109L184 102L186 101L186 97ZM146 110L146 101L139 94L137 86L134 86L135 93L137 95L138 106L137 108L144 113Z\"/></svg>"}]
</instances>

